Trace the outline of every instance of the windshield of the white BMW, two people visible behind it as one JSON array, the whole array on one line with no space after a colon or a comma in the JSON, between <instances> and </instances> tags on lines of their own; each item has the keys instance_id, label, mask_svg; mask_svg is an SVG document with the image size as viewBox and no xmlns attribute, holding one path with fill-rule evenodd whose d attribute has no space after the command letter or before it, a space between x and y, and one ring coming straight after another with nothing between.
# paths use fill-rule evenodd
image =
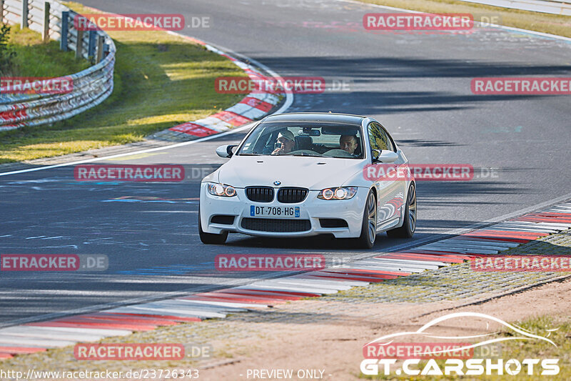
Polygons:
<instances>
[{"instance_id":1,"label":"windshield of the white BMW, two people visible behind it","mask_svg":"<svg viewBox=\"0 0 571 381\"><path fill-rule=\"evenodd\" d=\"M266 122L254 129L237 154L363 159L362 147L360 126L320 122Z\"/></svg>"}]
</instances>

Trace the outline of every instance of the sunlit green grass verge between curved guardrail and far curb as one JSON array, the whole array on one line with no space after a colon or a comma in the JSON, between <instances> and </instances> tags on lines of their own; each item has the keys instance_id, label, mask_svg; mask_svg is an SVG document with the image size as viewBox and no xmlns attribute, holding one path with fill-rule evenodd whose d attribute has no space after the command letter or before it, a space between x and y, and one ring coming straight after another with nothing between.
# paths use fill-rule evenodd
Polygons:
<instances>
[{"instance_id":1,"label":"sunlit green grass verge between curved guardrail and far curb","mask_svg":"<svg viewBox=\"0 0 571 381\"><path fill-rule=\"evenodd\" d=\"M82 11L79 4L69 3L68 6ZM40 38L31 31L26 34L30 41ZM243 97L243 94L216 93L216 77L246 74L228 59L201 45L163 31L111 31L108 34L117 48L115 89L111 97L98 107L64 122L1 132L0 163L138 142L153 132L207 117ZM51 44L54 43L49 46ZM21 48L26 49L25 46ZM51 48L50 51L42 66L53 67L48 62L50 59L55 66L61 60L70 61L69 54ZM29 59L26 62L26 66L34 66L29 63L35 61ZM71 64L81 65L74 59ZM22 66L19 64L20 68ZM46 76L79 71L69 69L66 66L62 69L64 73L58 71L56 74L54 70Z\"/></svg>"}]
</instances>

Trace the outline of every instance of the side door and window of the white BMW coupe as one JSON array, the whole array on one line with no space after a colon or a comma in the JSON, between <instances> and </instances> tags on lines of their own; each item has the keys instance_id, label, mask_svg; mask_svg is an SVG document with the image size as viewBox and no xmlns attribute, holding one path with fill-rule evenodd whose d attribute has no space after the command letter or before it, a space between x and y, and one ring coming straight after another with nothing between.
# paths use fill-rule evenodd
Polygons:
<instances>
[{"instance_id":1,"label":"side door and window of the white BMW coupe","mask_svg":"<svg viewBox=\"0 0 571 381\"><path fill-rule=\"evenodd\" d=\"M369 124L368 137L371 150L379 149L381 152L384 150L397 152L393 139L378 122ZM372 153L370 157L373 157ZM399 165L402 164L405 164L403 156L399 154L396 162L383 164L383 169L385 172L394 170L395 172L393 173L396 173ZM378 194L377 227L378 229L383 229L383 227L393 224L395 219L400 217L401 207L405 199L406 181L403 178L393 176L390 179L378 179L375 181L375 187Z\"/></svg>"}]
</instances>

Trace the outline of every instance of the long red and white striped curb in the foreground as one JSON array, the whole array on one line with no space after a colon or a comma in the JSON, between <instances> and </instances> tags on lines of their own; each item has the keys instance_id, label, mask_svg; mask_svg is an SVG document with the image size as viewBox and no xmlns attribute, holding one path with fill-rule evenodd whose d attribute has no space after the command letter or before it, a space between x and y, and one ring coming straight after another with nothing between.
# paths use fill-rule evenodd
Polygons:
<instances>
[{"instance_id":1,"label":"long red and white striped curb in the foreground","mask_svg":"<svg viewBox=\"0 0 571 381\"><path fill-rule=\"evenodd\" d=\"M472 257L498 254L569 228L571 202L564 202L456 237L361 259L344 267L7 327L0 329L0 358L66 347L77 342L96 342L104 337L130 335L134 331L150 331L159 326L226 317L228 313L303 297L335 294L351 287L462 263Z\"/></svg>"}]
</instances>

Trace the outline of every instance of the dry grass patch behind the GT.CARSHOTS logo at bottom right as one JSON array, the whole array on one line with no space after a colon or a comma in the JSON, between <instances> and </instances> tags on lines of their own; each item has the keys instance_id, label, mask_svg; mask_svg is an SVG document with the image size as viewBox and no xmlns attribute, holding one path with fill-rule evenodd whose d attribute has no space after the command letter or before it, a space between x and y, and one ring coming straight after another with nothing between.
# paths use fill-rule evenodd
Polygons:
<instances>
[{"instance_id":1,"label":"dry grass patch behind the GT.CARSHOTS logo at bottom right","mask_svg":"<svg viewBox=\"0 0 571 381\"><path fill-rule=\"evenodd\" d=\"M532 332L532 334L546 337L548 332L546 330L557 329L551 332L548 336L552 342L555 342L557 347L554 347L548 342L542 340L506 340L501 343L501 355L499 358L503 359L504 362L510 359L515 359L522 361L524 359L559 359L557 365L560 368L559 374L557 375L540 375L542 367L540 364L534 365L534 374L527 375L527 366L522 365L522 370L517 375L478 375L478 376L402 376L397 377L394 374L390 376L367 376L362 373L359 375L360 378L364 380L497 380L497 381L512 381L512 380L571 380L571 320L570 317L548 317L541 316L532 319L524 320L522 322L512 322L519 327L524 328ZM512 332L503 331L504 337L512 336ZM401 360L402 361L402 360ZM444 360L436 360L440 370L444 369ZM492 360L493 363L497 362L497 359ZM398 365L402 365L402 362L398 362ZM415 369L422 370L426 361L421 361ZM383 370L381 369L381 372ZM394 370L393 370L394 372ZM504 372L505 373L505 372Z\"/></svg>"}]
</instances>

